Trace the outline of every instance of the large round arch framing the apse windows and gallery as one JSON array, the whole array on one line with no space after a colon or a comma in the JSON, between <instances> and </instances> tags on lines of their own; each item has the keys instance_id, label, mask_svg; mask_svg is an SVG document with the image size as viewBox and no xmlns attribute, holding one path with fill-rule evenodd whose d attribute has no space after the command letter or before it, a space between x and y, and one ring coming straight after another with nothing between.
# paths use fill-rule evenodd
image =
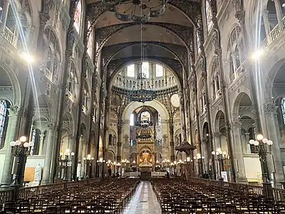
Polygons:
<instances>
[{"instance_id":1,"label":"large round arch framing the apse windows and gallery","mask_svg":"<svg viewBox=\"0 0 285 214\"><path fill-rule=\"evenodd\" d=\"M130 60L128 62L123 63L122 65L118 66L118 68L115 69L115 71L110 76L110 83L109 83L109 86L108 86L108 92L109 93L110 93L110 91L112 91L112 86L113 86L113 81L115 81L115 76L117 76L117 74L120 72L120 70L122 68L125 68L126 66L129 66L130 64L138 63L139 61L140 61L140 59L136 58L136 59L133 59L133 60ZM177 75L177 73L175 71L173 71L173 68L168 66L166 63L163 63L162 61L155 60L153 58L145 58L145 61L158 63L158 64L160 64L162 66L165 66L165 68L167 68L173 74L173 76L175 76L176 82L177 82L177 86L178 86L179 90L182 90L182 83L180 81L180 78Z\"/></svg>"}]
</instances>

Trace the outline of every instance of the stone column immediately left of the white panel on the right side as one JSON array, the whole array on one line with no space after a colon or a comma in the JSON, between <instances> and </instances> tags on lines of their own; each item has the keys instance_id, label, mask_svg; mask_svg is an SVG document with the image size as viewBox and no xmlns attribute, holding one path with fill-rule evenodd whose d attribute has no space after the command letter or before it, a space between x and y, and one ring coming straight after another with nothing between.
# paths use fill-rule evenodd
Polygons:
<instances>
[{"instance_id":1,"label":"stone column immediately left of the white panel on the right side","mask_svg":"<svg viewBox=\"0 0 285 214\"><path fill-rule=\"evenodd\" d=\"M241 126L242 123L238 118L235 118L232 121L232 136L233 136L233 145L232 145L232 157L231 161L237 164L234 164L235 171L237 173L237 182L238 183L247 183L247 178L245 175L244 169L244 156L242 155L242 138L241 138Z\"/></svg>"}]
</instances>

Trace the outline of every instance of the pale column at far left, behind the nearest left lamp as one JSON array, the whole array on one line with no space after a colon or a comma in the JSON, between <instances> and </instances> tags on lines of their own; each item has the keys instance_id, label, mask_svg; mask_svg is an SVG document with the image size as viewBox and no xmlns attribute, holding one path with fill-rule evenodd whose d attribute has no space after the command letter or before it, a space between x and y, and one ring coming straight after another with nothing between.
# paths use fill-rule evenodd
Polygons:
<instances>
[{"instance_id":1,"label":"pale column at far left, behind the nearest left lamp","mask_svg":"<svg viewBox=\"0 0 285 214\"><path fill-rule=\"evenodd\" d=\"M9 121L7 125L6 138L5 138L5 159L1 177L1 184L3 187L9 186L11 183L11 170L13 165L13 155L11 154L11 141L16 141L19 131L19 118L21 117L21 107L10 106L9 108Z\"/></svg>"}]
</instances>

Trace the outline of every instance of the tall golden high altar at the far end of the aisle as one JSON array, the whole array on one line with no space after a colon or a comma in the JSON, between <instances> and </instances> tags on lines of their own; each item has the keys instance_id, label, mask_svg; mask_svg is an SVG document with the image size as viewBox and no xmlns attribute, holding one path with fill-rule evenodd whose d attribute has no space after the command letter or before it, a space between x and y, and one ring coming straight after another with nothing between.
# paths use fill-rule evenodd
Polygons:
<instances>
[{"instance_id":1,"label":"tall golden high altar at the far end of the aisle","mask_svg":"<svg viewBox=\"0 0 285 214\"><path fill-rule=\"evenodd\" d=\"M153 131L147 124L137 128L137 163L140 172L155 170L155 141Z\"/></svg>"}]
</instances>

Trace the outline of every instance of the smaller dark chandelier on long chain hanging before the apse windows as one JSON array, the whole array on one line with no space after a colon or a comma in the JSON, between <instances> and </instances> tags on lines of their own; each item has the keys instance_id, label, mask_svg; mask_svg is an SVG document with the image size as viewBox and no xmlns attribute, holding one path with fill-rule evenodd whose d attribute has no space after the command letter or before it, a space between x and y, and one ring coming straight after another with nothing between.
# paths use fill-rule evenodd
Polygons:
<instances>
[{"instance_id":1,"label":"smaller dark chandelier on long chain hanging before the apse windows","mask_svg":"<svg viewBox=\"0 0 285 214\"><path fill-rule=\"evenodd\" d=\"M156 98L155 91L150 88L150 86L143 86L143 80L147 78L146 73L142 71L142 62L144 60L144 51L142 45L142 24L140 24L140 69L138 70L138 77L137 77L137 90L130 91L129 98L130 101L137 101L140 103L145 103L147 101L153 101ZM147 88L148 87L148 88Z\"/></svg>"}]
</instances>

